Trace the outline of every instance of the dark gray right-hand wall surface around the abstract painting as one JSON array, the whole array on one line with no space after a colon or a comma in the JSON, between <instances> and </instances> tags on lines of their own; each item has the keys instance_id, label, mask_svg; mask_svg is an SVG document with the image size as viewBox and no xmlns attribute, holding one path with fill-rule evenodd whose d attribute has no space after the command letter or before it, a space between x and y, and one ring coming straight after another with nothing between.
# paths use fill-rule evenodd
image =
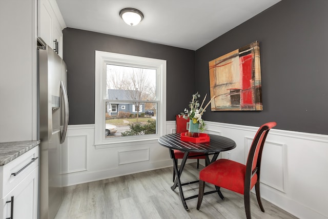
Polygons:
<instances>
[{"instance_id":1,"label":"dark gray right-hand wall surface around the abstract painting","mask_svg":"<svg viewBox=\"0 0 328 219\"><path fill-rule=\"evenodd\" d=\"M196 51L196 88L210 93L209 61L260 42L263 111L208 110L208 121L328 134L328 1L283 0Z\"/></svg>"}]
</instances>

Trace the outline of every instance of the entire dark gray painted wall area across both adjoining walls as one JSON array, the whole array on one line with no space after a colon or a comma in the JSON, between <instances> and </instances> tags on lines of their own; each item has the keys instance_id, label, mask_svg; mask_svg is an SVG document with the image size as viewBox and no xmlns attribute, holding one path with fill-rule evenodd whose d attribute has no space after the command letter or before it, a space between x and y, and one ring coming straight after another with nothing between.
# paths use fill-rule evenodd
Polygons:
<instances>
[{"instance_id":1,"label":"entire dark gray painted wall area across both adjoining walls","mask_svg":"<svg viewBox=\"0 0 328 219\"><path fill-rule=\"evenodd\" d=\"M166 59L167 121L173 121L192 93L210 94L209 61L259 41L263 111L208 109L203 118L250 126L276 121L277 129L328 134L327 11L326 0L283 0L196 52L66 28L70 125L94 124L95 50Z\"/></svg>"}]
</instances>

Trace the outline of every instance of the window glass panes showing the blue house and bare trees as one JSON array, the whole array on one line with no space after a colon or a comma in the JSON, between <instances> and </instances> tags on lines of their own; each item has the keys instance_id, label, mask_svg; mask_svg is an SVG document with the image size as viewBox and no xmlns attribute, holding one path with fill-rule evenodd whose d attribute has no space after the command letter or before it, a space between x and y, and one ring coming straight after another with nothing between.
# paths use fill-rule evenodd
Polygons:
<instances>
[{"instance_id":1,"label":"window glass panes showing the blue house and bare trees","mask_svg":"<svg viewBox=\"0 0 328 219\"><path fill-rule=\"evenodd\" d=\"M156 69L106 64L106 86L105 138L157 133Z\"/></svg>"}]
</instances>

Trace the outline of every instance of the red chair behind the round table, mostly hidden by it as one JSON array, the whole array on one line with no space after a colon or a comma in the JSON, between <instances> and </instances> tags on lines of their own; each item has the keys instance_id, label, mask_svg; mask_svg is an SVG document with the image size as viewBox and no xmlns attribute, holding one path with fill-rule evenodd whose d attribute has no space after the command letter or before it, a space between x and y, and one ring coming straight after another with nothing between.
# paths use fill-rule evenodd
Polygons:
<instances>
[{"instance_id":1,"label":"red chair behind the round table, mostly hidden by it","mask_svg":"<svg viewBox=\"0 0 328 219\"><path fill-rule=\"evenodd\" d=\"M182 117L182 115L176 115L176 133L183 133L187 132L187 123L189 120L186 120L185 118ZM173 150L174 152L174 157L175 160L177 161L178 159L182 159L184 153L179 150ZM200 156L196 156L200 155ZM196 156L196 157L188 157L189 159L197 159L197 168L199 168L199 159L205 159L204 153L198 153L198 152L190 152L189 156ZM173 182L175 180L175 172L173 171Z\"/></svg>"}]
</instances>

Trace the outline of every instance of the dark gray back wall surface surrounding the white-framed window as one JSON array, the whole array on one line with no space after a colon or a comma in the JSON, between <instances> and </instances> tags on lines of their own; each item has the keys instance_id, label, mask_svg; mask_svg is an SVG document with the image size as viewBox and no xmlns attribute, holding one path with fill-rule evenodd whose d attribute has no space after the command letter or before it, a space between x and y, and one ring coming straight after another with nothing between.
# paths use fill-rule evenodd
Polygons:
<instances>
[{"instance_id":1,"label":"dark gray back wall surface surrounding the white-framed window","mask_svg":"<svg viewBox=\"0 0 328 219\"><path fill-rule=\"evenodd\" d=\"M68 70L70 125L94 124L95 50L167 61L167 120L188 106L195 92L195 51L124 37L66 28L64 61ZM96 88L98 89L98 88ZM97 112L101 113L101 112Z\"/></svg>"}]
</instances>

